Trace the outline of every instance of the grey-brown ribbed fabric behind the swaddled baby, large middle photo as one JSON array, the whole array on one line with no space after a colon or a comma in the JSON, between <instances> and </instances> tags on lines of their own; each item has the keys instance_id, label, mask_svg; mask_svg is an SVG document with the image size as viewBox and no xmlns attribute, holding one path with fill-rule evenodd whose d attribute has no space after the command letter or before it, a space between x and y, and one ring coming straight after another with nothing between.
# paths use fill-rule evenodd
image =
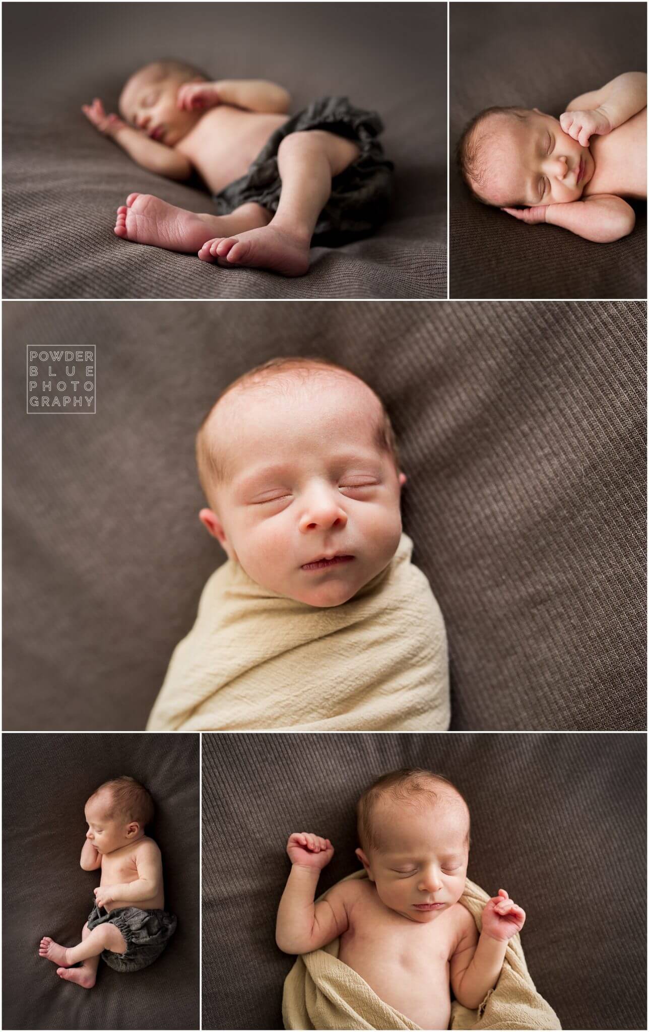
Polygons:
<instances>
[{"instance_id":1,"label":"grey-brown ribbed fabric behind the swaddled baby, large middle photo","mask_svg":"<svg viewBox=\"0 0 649 1032\"><path fill-rule=\"evenodd\" d=\"M646 725L645 305L4 305L4 727L143 728L222 561L194 432L273 355L384 397L453 728ZM97 345L95 416L27 415L26 346Z\"/></svg>"}]
</instances>

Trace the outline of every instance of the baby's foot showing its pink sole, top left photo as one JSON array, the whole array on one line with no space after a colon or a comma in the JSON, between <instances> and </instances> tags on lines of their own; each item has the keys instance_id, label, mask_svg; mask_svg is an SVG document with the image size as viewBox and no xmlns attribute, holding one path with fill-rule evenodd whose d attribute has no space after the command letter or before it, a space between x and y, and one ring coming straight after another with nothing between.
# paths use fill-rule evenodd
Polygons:
<instances>
[{"instance_id":1,"label":"baby's foot showing its pink sole, top left photo","mask_svg":"<svg viewBox=\"0 0 649 1032\"><path fill-rule=\"evenodd\" d=\"M115 232L133 244L195 252L220 225L217 215L195 215L153 194L129 194L118 208Z\"/></svg>"}]
</instances>

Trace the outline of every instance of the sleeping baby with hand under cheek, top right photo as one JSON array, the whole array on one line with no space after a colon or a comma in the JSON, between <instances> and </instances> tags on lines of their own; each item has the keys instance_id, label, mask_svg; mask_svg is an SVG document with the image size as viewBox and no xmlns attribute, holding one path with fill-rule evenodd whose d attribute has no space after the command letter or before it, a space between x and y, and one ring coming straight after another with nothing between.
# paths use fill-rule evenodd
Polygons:
<instances>
[{"instance_id":1,"label":"sleeping baby with hand under cheek, top right photo","mask_svg":"<svg viewBox=\"0 0 649 1032\"><path fill-rule=\"evenodd\" d=\"M537 107L489 107L458 143L474 196L532 225L608 244L634 228L622 197L647 196L647 76L625 72L557 120Z\"/></svg>"}]
</instances>

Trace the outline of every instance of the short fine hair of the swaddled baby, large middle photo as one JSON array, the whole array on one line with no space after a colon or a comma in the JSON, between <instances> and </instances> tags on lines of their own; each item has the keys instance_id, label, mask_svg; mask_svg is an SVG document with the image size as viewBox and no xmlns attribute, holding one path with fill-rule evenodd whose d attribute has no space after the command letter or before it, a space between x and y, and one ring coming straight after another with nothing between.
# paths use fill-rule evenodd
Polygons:
<instances>
[{"instance_id":1,"label":"short fine hair of the swaddled baby, large middle photo","mask_svg":"<svg viewBox=\"0 0 649 1032\"><path fill-rule=\"evenodd\" d=\"M337 365L335 362L329 362L324 358L302 358L300 356L293 356L290 358L271 358L269 361L263 362L261 365L256 365L254 369L250 369L248 373L245 373L237 380L226 387L221 394L219 394L219 397L201 422L196 434L196 463L198 465L198 478L200 480L203 493L208 501L212 495L214 482L216 481L218 484L223 483L227 480L228 475L223 461L219 459L217 454L215 454L214 446L210 445L206 430L209 417L226 394L229 394L235 388L247 386L257 387L273 380L280 380L285 374L297 375L301 378L302 382L305 382L310 377L322 374L330 376L332 373L345 377L354 377L355 380L360 380L363 384L365 383L365 381L361 380L360 377L357 377L355 373L352 373L350 369L346 369L343 365ZM381 416L377 424L375 436L376 443L382 451L387 451L388 454L392 456L394 465L398 471L399 457L396 438L394 436L390 417L377 392L374 391L368 384L365 384L365 386L371 390L381 406Z\"/></svg>"}]
</instances>

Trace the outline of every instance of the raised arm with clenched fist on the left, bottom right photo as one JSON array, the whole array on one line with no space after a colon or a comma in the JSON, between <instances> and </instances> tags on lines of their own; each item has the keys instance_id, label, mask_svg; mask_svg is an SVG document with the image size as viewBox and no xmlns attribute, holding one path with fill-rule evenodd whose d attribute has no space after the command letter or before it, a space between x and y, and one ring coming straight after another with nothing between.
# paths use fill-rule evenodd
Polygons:
<instances>
[{"instance_id":1,"label":"raised arm with clenched fist on the left, bottom right photo","mask_svg":"<svg viewBox=\"0 0 649 1032\"><path fill-rule=\"evenodd\" d=\"M333 856L329 839L293 834L286 851L293 866L280 901L275 941L285 954L309 954L347 931L345 890L334 885L326 899L314 902L320 872Z\"/></svg>"}]
</instances>

